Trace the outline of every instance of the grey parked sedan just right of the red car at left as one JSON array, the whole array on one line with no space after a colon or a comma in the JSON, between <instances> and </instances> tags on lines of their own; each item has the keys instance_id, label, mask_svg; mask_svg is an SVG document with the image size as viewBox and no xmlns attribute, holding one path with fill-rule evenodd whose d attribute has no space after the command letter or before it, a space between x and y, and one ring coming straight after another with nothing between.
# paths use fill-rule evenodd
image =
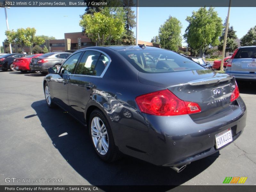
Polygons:
<instances>
[{"instance_id":1,"label":"grey parked sedan just right of the red car at left","mask_svg":"<svg viewBox=\"0 0 256 192\"><path fill-rule=\"evenodd\" d=\"M32 58L29 67L32 71L47 73L50 67L60 68L62 63L71 55L68 52L50 52L36 58Z\"/></svg>"}]
</instances>

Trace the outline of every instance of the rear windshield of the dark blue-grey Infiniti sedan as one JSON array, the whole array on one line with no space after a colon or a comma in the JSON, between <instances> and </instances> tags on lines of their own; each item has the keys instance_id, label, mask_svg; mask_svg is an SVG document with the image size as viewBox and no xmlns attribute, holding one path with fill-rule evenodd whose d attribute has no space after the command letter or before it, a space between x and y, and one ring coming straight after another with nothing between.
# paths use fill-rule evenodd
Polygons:
<instances>
[{"instance_id":1,"label":"rear windshield of the dark blue-grey Infiniti sedan","mask_svg":"<svg viewBox=\"0 0 256 192\"><path fill-rule=\"evenodd\" d=\"M164 73L204 69L194 61L167 50L122 50L119 53L144 73Z\"/></svg>"}]
</instances>

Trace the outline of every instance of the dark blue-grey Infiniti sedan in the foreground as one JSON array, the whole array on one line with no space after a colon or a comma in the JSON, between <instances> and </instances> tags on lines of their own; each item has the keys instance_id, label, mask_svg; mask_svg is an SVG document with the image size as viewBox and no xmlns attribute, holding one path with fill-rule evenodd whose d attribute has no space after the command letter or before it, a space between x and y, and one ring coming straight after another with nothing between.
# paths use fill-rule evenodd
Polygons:
<instances>
[{"instance_id":1,"label":"dark blue-grey Infiniti sedan in the foreground","mask_svg":"<svg viewBox=\"0 0 256 192\"><path fill-rule=\"evenodd\" d=\"M236 140L245 127L235 78L172 51L90 47L48 72L47 105L87 125L107 162L123 153L180 172Z\"/></svg>"}]
</instances>

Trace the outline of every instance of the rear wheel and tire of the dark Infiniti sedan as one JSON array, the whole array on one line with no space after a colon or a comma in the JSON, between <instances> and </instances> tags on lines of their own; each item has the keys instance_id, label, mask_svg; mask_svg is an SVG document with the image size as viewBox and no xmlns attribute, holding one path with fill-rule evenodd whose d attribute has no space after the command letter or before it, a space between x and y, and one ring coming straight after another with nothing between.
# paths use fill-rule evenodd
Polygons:
<instances>
[{"instance_id":1,"label":"rear wheel and tire of the dark Infiniti sedan","mask_svg":"<svg viewBox=\"0 0 256 192\"><path fill-rule=\"evenodd\" d=\"M100 110L92 111L88 128L93 148L100 159L113 162L120 158L108 120Z\"/></svg>"}]
</instances>

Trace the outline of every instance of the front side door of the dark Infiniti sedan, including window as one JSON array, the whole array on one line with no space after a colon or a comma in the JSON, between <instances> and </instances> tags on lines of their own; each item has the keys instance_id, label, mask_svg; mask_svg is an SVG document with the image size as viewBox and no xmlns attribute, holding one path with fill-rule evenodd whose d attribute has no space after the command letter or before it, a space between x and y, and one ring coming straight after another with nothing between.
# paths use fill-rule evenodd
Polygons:
<instances>
[{"instance_id":1,"label":"front side door of the dark Infiniti sedan, including window","mask_svg":"<svg viewBox=\"0 0 256 192\"><path fill-rule=\"evenodd\" d=\"M69 110L68 84L70 75L74 74L76 63L81 54L82 52L78 52L69 57L58 70L58 73L52 77L53 101L66 110Z\"/></svg>"}]
</instances>

